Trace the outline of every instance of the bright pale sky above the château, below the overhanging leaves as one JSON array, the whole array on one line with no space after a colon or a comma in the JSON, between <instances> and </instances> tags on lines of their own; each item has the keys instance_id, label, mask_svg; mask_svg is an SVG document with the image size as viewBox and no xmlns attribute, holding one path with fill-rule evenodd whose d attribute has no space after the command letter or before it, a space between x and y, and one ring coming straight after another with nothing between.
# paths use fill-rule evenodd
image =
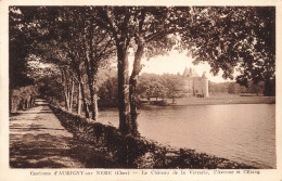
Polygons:
<instances>
[{"instance_id":1,"label":"bright pale sky above the ch\u00e2teau, below the overhanging leaves","mask_svg":"<svg viewBox=\"0 0 282 181\"><path fill-rule=\"evenodd\" d=\"M142 64L144 65L142 68L142 73L154 73L154 74L183 74L185 67L194 68L195 72L202 76L204 72L206 72L206 77L213 82L225 82L231 81L230 79L223 79L222 73L219 72L218 76L213 76L209 73L210 66L206 64L193 65L193 59L188 57L185 53L179 53L177 50L172 50L168 55L159 55L156 57L152 57L149 61L145 59L142 60ZM129 55L129 73L132 70L133 55Z\"/></svg>"}]
</instances>

